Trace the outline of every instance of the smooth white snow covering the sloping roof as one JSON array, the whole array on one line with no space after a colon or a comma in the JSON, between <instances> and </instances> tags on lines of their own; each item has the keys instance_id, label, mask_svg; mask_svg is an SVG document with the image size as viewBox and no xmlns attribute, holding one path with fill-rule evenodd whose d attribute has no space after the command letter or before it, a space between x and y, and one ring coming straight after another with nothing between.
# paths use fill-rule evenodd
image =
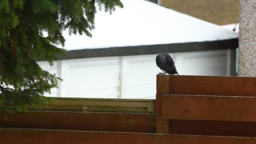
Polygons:
<instances>
[{"instance_id":1,"label":"smooth white snow covering the sloping roof","mask_svg":"<svg viewBox=\"0 0 256 144\"><path fill-rule=\"evenodd\" d=\"M92 38L68 35L66 50L175 44L237 38L237 34L210 22L144 0L122 0L124 8L95 15Z\"/></svg>"}]
</instances>

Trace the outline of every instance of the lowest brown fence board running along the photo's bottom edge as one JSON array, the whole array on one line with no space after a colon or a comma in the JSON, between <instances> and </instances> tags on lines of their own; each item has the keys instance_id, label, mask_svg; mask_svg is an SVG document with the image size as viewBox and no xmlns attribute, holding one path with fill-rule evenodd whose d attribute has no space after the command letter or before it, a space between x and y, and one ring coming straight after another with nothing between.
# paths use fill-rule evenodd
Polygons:
<instances>
[{"instance_id":1,"label":"lowest brown fence board running along the photo's bottom edge","mask_svg":"<svg viewBox=\"0 0 256 144\"><path fill-rule=\"evenodd\" d=\"M253 137L195 136L92 131L0 129L0 143L97 143L97 144L252 144ZM15 137L15 138L14 138Z\"/></svg>"}]
</instances>

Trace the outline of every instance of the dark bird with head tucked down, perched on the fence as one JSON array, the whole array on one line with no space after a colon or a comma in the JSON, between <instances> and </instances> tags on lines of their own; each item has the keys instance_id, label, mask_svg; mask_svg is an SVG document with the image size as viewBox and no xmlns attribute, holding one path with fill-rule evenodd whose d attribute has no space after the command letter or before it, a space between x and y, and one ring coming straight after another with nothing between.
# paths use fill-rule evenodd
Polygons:
<instances>
[{"instance_id":1,"label":"dark bird with head tucked down, perched on the fence","mask_svg":"<svg viewBox=\"0 0 256 144\"><path fill-rule=\"evenodd\" d=\"M160 53L156 56L156 65L164 72L164 74L178 74L173 59L168 53Z\"/></svg>"}]
</instances>

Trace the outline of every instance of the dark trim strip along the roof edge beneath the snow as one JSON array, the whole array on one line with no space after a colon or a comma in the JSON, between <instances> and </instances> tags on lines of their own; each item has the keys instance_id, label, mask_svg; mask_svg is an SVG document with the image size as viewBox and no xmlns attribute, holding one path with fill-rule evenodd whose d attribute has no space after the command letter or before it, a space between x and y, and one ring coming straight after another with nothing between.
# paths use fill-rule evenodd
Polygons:
<instances>
[{"instance_id":1,"label":"dark trim strip along the roof edge beneath the snow","mask_svg":"<svg viewBox=\"0 0 256 144\"><path fill-rule=\"evenodd\" d=\"M160 44L160 45L141 45L125 47L108 47L102 49L82 49L67 51L67 56L60 59L77 59L91 57L112 57L112 56L133 56L150 55L156 53L174 53L174 52L193 52L208 50L236 49L238 47L238 38L202 41L191 43Z\"/></svg>"}]
</instances>

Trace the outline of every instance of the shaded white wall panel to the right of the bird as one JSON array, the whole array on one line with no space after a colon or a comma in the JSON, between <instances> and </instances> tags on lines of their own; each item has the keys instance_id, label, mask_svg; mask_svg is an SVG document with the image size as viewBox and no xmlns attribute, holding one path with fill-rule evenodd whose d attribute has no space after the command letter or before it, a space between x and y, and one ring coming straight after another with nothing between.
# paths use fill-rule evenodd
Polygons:
<instances>
[{"instance_id":1,"label":"shaded white wall panel to the right of the bird","mask_svg":"<svg viewBox=\"0 0 256 144\"><path fill-rule=\"evenodd\" d=\"M176 53L176 65L181 75L226 75L227 51Z\"/></svg>"}]
</instances>

